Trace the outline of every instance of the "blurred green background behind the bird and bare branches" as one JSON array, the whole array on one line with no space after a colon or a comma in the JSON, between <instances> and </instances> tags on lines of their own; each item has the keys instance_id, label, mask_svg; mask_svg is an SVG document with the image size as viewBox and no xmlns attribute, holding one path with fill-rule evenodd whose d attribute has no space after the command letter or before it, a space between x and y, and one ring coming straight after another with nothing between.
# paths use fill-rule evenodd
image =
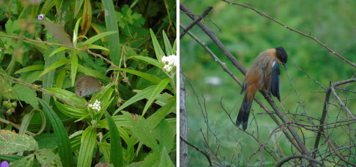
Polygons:
<instances>
[{"instance_id":1,"label":"blurred green background behind the bird and bare branches","mask_svg":"<svg viewBox=\"0 0 356 167\"><path fill-rule=\"evenodd\" d=\"M320 85L316 84L307 76L298 71L292 64L296 64L300 69L305 70L315 80L319 81L325 88L328 88L330 81L337 82L341 80L350 79L355 74L356 69L350 64L345 63L336 55L328 52L320 44L312 39L302 36L296 32L279 25L276 22L262 17L255 11L246 9L242 6L227 4L219 0L205 0L205 1L190 1L182 0L196 15L200 15L206 7L212 6L213 9L206 17L214 22L205 21L205 24L216 34L227 49L235 56L235 58L246 68L250 68L255 57L266 49L283 46L288 53L287 73L292 79L293 85L300 95L300 100L304 102L306 113L312 117L320 118L325 99L325 93L313 91L324 91ZM232 1L240 4L251 5L255 9L266 13L268 16L284 23L285 25L302 31L304 33L311 33L319 41L326 44L335 52L342 55L351 62L356 61L356 1L334 1L334 0L319 0L319 1ZM180 23L187 26L192 20L184 13L180 13ZM180 32L182 29L180 29ZM219 50L213 41L198 27L194 26L190 31L199 39L206 43L206 45L218 56L218 58L226 63L229 68L239 79L244 81L245 76L238 71L235 66L226 58L226 56ZM220 99L223 97L222 104L224 108L230 112L235 104L231 117L233 121L236 120L239 108L241 106L240 95L241 87L226 73L213 58L188 34L180 40L180 63L182 64L182 71L187 75L195 89L200 96L200 102L203 103L205 98L205 106L209 117L209 126L214 130L214 124L218 118L217 134L220 140L221 155L225 156L226 162L231 161L232 153L236 146L235 139L229 134L234 135L238 140L242 139L243 150L240 152L240 147L234 156L233 165L236 165L237 154L242 153L242 160L246 160L253 152L258 150L258 143L252 139L251 136L246 135L240 131L231 122L226 113L220 105ZM185 82L187 90L187 108L188 108L188 124L189 124L189 142L203 149L201 146L202 135L198 131L202 128L206 132L206 125L198 106L197 98L192 92L188 82ZM355 83L350 84L349 89L355 91ZM341 86L341 87L345 87ZM290 92L290 93L289 93ZM339 92L339 90L337 90ZM287 96L287 94L289 95ZM257 93L256 96L271 109L264 97ZM287 96L287 97L286 97ZM341 93L340 97L354 98L356 95L350 92ZM286 111L291 113L304 113L302 107L297 103L298 97L290 81L286 77L284 70L281 69L281 98L283 107ZM278 104L278 99L274 98ZM332 97L331 97L332 99ZM347 107L350 111L355 110L355 101L348 101ZM299 106L299 107L298 107ZM260 129L261 141L268 138L271 131L276 128L276 124L265 113L265 111L253 102L252 109L255 110L256 120ZM335 121L335 117L339 114L339 108L334 106L329 107L328 123ZM341 117L345 117L342 112ZM250 114L249 125L247 131L256 134L256 123L252 120ZM299 117L306 120L305 117ZM339 118L340 120L340 118ZM313 121L319 124L318 121ZM302 122L305 123L305 122ZM307 123L306 123L307 124ZM355 124L353 124L355 125ZM204 130L205 129L205 130ZM228 132L228 131L229 132ZM335 141L344 143L349 138L355 136L340 135L343 133L341 128L334 129L333 132ZM310 151L314 145L316 134L312 131L303 130L307 149ZM277 133L277 137L281 132ZM300 134L300 133L299 133ZM216 149L216 143L213 135L210 135L210 145ZM269 141L269 145L274 145L276 139L274 135ZM278 140L283 152L286 156L291 155L290 142L282 136ZM320 141L320 144L324 139ZM323 148L322 148L323 149ZM204 149L203 149L204 150ZM295 151L295 149L294 149ZM320 150L323 151L323 150ZM262 156L263 154L263 156ZM251 166L260 166L258 160L263 160L266 163L272 162L272 157L265 152L259 152L253 156L249 162ZM350 160L355 162L355 160ZM229 163L229 162L227 162ZM189 166L208 166L206 158L198 151L189 147ZM329 164L331 165L331 164Z\"/></svg>"}]
</instances>

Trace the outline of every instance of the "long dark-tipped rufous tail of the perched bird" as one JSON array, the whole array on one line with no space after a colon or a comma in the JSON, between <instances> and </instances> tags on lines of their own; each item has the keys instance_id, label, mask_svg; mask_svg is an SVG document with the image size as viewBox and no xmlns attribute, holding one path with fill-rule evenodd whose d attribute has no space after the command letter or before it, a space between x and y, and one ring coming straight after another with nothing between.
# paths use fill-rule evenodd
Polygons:
<instances>
[{"instance_id":1,"label":"long dark-tipped rufous tail of the perched bird","mask_svg":"<svg viewBox=\"0 0 356 167\"><path fill-rule=\"evenodd\" d=\"M253 102L253 98L255 97L255 93L256 92L246 90L239 115L237 115L236 126L240 126L240 124L242 123L242 129L244 130L246 130L247 128L248 115L250 115L250 109Z\"/></svg>"}]
</instances>

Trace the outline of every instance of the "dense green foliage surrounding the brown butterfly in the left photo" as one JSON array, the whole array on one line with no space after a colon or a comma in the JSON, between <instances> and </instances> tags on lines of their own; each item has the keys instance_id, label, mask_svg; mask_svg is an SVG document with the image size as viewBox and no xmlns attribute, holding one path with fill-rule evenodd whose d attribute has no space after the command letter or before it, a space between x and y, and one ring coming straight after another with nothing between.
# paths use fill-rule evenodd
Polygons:
<instances>
[{"instance_id":1,"label":"dense green foliage surrounding the brown butterfly in the left photo","mask_svg":"<svg viewBox=\"0 0 356 167\"><path fill-rule=\"evenodd\" d=\"M1 3L1 162L174 166L175 1ZM79 98L82 75L104 86Z\"/></svg>"}]
</instances>

